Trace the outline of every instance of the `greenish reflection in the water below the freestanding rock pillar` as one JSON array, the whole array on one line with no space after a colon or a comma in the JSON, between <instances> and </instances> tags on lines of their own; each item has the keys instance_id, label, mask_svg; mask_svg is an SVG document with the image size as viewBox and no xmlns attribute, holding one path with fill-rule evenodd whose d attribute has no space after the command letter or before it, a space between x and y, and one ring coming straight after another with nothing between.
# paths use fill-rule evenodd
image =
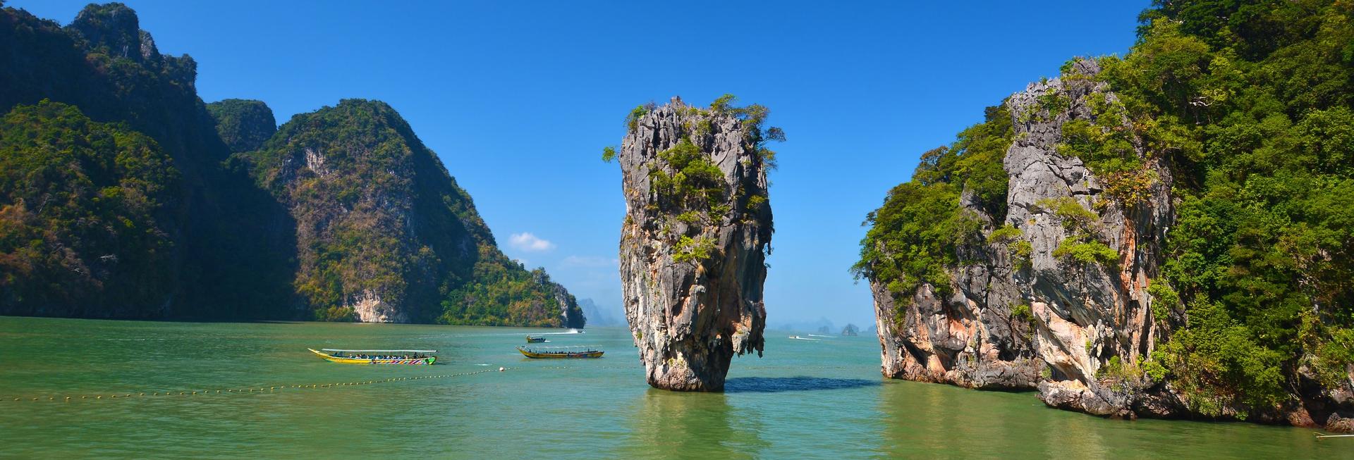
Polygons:
<instances>
[{"instance_id":1,"label":"greenish reflection in the water below the freestanding rock pillar","mask_svg":"<svg viewBox=\"0 0 1354 460\"><path fill-rule=\"evenodd\" d=\"M650 388L630 410L631 438L605 457L751 459L770 445L761 438L761 421L730 406L724 394Z\"/></svg>"}]
</instances>

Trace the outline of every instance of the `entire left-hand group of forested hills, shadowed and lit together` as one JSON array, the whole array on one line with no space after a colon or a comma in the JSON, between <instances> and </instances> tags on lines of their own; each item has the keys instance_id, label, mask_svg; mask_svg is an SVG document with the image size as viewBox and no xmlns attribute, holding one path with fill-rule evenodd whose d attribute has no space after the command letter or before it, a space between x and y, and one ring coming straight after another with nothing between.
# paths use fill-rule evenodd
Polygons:
<instances>
[{"instance_id":1,"label":"entire left-hand group of forested hills, shadowed and lit together","mask_svg":"<svg viewBox=\"0 0 1354 460\"><path fill-rule=\"evenodd\" d=\"M195 80L123 4L0 8L0 314L584 326L389 106Z\"/></svg>"}]
</instances>

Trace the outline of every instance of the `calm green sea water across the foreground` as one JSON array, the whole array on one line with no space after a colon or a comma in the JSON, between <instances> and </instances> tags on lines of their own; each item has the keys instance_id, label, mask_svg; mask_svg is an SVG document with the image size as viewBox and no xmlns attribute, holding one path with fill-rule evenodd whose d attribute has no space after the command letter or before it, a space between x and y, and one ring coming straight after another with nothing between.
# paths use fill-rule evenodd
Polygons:
<instances>
[{"instance_id":1,"label":"calm green sea water across the foreground","mask_svg":"<svg viewBox=\"0 0 1354 460\"><path fill-rule=\"evenodd\" d=\"M528 333L607 356L527 360L515 346ZM677 394L645 384L619 327L0 317L0 457L1354 459L1354 440L1307 429L1112 421L1029 392L884 380L873 336L810 338L768 333L765 357L734 360L727 392ZM306 348L440 359L345 365ZM378 383L295 388L359 382Z\"/></svg>"}]
</instances>

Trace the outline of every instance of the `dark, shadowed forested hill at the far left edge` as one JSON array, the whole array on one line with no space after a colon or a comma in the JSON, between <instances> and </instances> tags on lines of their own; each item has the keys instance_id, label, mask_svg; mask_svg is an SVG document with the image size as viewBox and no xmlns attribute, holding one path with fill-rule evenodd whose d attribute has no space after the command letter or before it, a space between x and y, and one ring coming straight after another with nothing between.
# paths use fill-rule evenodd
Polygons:
<instances>
[{"instance_id":1,"label":"dark, shadowed forested hill at the far left edge","mask_svg":"<svg viewBox=\"0 0 1354 460\"><path fill-rule=\"evenodd\" d=\"M0 314L294 317L287 214L222 166L230 150L195 80L196 62L161 54L126 5L91 4L66 27L0 8L0 111L32 135L5 143ZM80 162L53 164L58 147ZM130 185L148 170L118 161L168 165L173 180Z\"/></svg>"}]
</instances>

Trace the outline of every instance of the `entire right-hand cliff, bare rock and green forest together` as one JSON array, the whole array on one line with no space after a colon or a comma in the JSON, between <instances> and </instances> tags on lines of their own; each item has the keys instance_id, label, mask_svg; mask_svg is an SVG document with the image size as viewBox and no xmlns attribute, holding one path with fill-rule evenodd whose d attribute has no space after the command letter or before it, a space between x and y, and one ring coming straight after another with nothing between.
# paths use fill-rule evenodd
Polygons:
<instances>
[{"instance_id":1,"label":"entire right-hand cliff, bare rock and green forest together","mask_svg":"<svg viewBox=\"0 0 1354 460\"><path fill-rule=\"evenodd\" d=\"M923 154L854 267L884 375L1354 429L1351 16L1160 3Z\"/></svg>"}]
</instances>

